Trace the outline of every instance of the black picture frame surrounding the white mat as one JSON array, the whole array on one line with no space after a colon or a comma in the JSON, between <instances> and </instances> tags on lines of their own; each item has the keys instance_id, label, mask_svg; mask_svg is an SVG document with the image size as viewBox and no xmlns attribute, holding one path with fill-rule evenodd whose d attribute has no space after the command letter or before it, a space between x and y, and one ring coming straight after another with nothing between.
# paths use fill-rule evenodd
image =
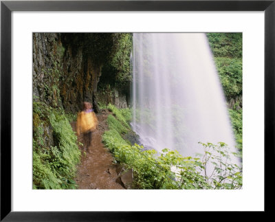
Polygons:
<instances>
[{"instance_id":1,"label":"black picture frame surrounding the white mat","mask_svg":"<svg viewBox=\"0 0 275 222\"><path fill-rule=\"evenodd\" d=\"M1 1L1 221L164 221L183 212L12 212L11 13L12 11L264 11L265 13L265 210L274 197L275 1ZM256 175L255 175L256 183ZM269 205L270 204L270 205ZM198 212L188 212L198 217ZM224 212L226 214L229 212ZM260 212L262 213L262 212ZM165 216L165 217L164 217ZM263 215L261 214L261 219ZM195 218L194 218L195 219ZM217 217L217 219L221 219ZM169 221L170 221L169 220Z\"/></svg>"}]
</instances>

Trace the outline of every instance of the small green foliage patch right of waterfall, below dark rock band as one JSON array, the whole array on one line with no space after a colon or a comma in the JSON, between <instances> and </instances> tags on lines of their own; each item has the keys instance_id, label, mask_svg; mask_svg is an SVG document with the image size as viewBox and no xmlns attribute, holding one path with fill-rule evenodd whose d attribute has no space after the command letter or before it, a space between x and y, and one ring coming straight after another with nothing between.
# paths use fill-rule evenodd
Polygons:
<instances>
[{"instance_id":1,"label":"small green foliage patch right of waterfall, below dark rock band","mask_svg":"<svg viewBox=\"0 0 275 222\"><path fill-rule=\"evenodd\" d=\"M237 148L243 150L243 109L228 109L232 128L234 131Z\"/></svg>"}]
</instances>

